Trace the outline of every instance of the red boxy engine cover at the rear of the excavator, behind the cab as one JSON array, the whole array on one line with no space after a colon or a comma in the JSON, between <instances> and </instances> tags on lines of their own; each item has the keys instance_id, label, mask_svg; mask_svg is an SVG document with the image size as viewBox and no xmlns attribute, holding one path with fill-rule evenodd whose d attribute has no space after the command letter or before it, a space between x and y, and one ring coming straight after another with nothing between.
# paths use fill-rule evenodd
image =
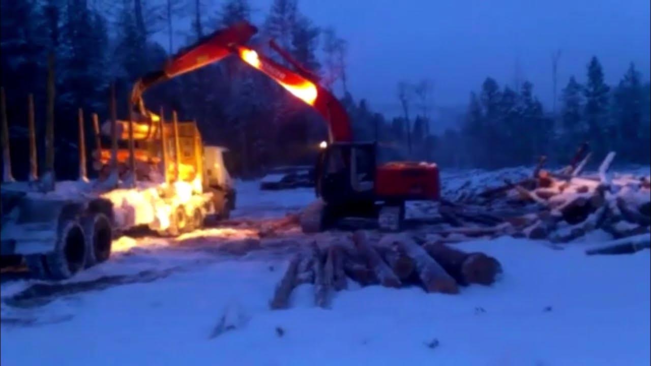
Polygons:
<instances>
[{"instance_id":1,"label":"red boxy engine cover at the rear of the excavator, behind the cab","mask_svg":"<svg viewBox=\"0 0 651 366\"><path fill-rule=\"evenodd\" d=\"M426 162L378 165L375 190L380 199L437 200L441 197L439 169Z\"/></svg>"}]
</instances>

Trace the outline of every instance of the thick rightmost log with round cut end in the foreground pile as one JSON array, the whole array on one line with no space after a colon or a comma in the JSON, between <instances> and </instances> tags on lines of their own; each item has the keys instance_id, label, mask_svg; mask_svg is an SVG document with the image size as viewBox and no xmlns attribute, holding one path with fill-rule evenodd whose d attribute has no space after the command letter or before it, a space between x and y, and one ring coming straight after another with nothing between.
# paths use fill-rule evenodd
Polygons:
<instances>
[{"instance_id":1,"label":"thick rightmost log with round cut end in the foreground pile","mask_svg":"<svg viewBox=\"0 0 651 366\"><path fill-rule=\"evenodd\" d=\"M502 273L502 266L484 253L465 253L444 244L429 243L422 248L460 285L491 285Z\"/></svg>"}]
</instances>

